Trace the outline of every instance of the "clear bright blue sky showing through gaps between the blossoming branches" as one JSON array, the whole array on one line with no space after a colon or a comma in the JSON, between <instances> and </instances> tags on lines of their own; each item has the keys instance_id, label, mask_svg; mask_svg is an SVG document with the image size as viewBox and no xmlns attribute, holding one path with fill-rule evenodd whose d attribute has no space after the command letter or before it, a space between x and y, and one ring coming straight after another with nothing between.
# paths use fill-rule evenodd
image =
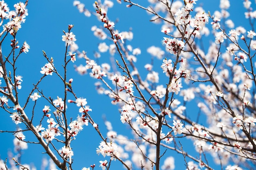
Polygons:
<instances>
[{"instance_id":1,"label":"clear bright blue sky showing through gaps between the blossoming branches","mask_svg":"<svg viewBox=\"0 0 256 170\"><path fill-rule=\"evenodd\" d=\"M16 3L14 0L7 0L6 2L9 4L10 8ZM94 0L83 0L81 2L85 4L85 7L94 11L92 7ZM140 1L137 2L140 3ZM235 26L241 25L246 27L248 23L247 21L244 22L243 13L245 10L239 10L239 7L242 6L242 2L242 0L231 0L231 7L228 10L231 13L229 19L233 20ZM197 3L203 5L205 11L211 11L211 13L219 9L219 1L198 0ZM144 2L144 4L147 3ZM254 1L252 4L252 6L255 7ZM149 22L150 16L148 16L144 10L138 7L127 9L125 6L126 3L117 4L115 2L114 7L108 11L108 17L113 21L117 18L119 19L119 22L115 24L115 28L120 31L128 31L132 28L134 39L132 42L128 43L131 44L133 48L138 47L141 49L141 55L138 56L138 62L136 64L143 70L145 61L149 62L148 59L150 59L150 55L146 52L146 49L152 45L161 47L161 40L166 35L161 33L161 25ZM93 58L93 53L97 51L98 44L101 42L101 40L94 37L91 27L93 25L102 25L96 17L91 16L87 18L82 13L79 13L76 7L73 6L72 0L30 0L27 9L29 15L27 16L25 24L22 24L22 28L18 31L17 37L20 45L24 41L27 41L30 45L29 52L20 56L17 68L18 75L23 76L22 89L19 95L25 96L25 99L30 89L33 88L33 83L36 83L42 76L40 74L40 68L47 63L43 57L42 50L44 50L49 57L54 58L54 63L57 68L62 69L61 64L63 63L63 57L65 55L65 43L61 40L61 36L63 35L62 30L67 31L68 24L74 24L72 32L76 35L76 44L78 44L79 50L85 50L90 58ZM205 39L204 41L207 46L209 39ZM211 39L211 41L214 41L214 39ZM107 43L110 44L110 42ZM9 42L6 42L2 47L2 51L5 55L8 54L8 49ZM108 60L109 56L103 54L99 62L103 63ZM84 64L84 60L78 59L75 64ZM90 105L93 111L91 115L100 125L99 128L102 129L103 134L105 133L106 135L106 130L104 130L105 127L103 125L103 115L106 115L106 118L113 122L112 126L114 130L120 133L125 132L127 126L124 126L121 124L121 121L119 121L120 116L117 106L112 106L107 96L97 95L94 86L94 82L96 81L90 78L89 75L81 76L76 73L72 64L68 67L68 71L70 72L67 77L74 79L73 88L76 89L75 93L79 94L79 97L87 98L88 105ZM54 76L46 77L39 88L42 88L44 92L52 98L56 98L57 96L61 97L63 95L63 90L60 91L59 82L56 81ZM42 114L41 110L43 106L47 104L43 102L43 99L40 99L40 102L42 103L37 106L38 113L36 114ZM29 107L33 106L32 104L33 103L30 102ZM68 109L70 114L73 114L74 117L78 115L77 108L71 107ZM15 130L15 124L12 123L9 115L2 109L0 109L0 114L2 117L0 119L0 130ZM13 138L13 135L10 133L0 133L0 139L4 139L0 140L1 159L5 159L7 152L13 150ZM33 140L34 137L27 136L27 139ZM98 157L95 151L100 141L101 139L91 126L84 128L84 130L80 132L77 139L73 141L72 144L74 149L74 169L81 169L84 166L88 167L93 163L98 166L98 161L103 159L101 156ZM184 147L189 148L189 145ZM36 168L40 169L42 159L41 152L44 152L42 147L30 144L28 150L22 151L22 163L34 162ZM176 167L179 167L179 164L184 165L182 155L176 155L174 152L169 152L169 154L177 157L177 159L175 159ZM43 157L46 156L43 155ZM115 162L112 166L112 169L116 169L114 167L119 167L120 164ZM182 169L185 169L185 166L183 166Z\"/></svg>"}]
</instances>

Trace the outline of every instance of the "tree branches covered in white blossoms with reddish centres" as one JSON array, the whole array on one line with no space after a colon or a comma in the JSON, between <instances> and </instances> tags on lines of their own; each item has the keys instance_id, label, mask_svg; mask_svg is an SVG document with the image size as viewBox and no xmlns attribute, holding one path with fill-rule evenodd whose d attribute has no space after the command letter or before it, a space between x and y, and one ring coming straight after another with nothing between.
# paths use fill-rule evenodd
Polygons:
<instances>
[{"instance_id":1,"label":"tree branches covered in white blossoms with reddish centres","mask_svg":"<svg viewBox=\"0 0 256 170\"><path fill-rule=\"evenodd\" d=\"M114 2L94 2L96 11L92 12L75 0L74 6L81 13L98 19L95 20L98 26L91 27L101 41L97 52L88 56L79 51L74 25L68 25L62 35L63 63L55 62L54 57L43 51L46 63L40 63L41 77L23 94L22 78L29 75L19 75L17 68L22 66L18 61L20 56L29 55L30 46L26 41L20 45L18 34L28 15L29 2L14 4L10 10L0 1L0 107L1 114L9 115L13 121L7 129L0 129L0 135L13 133L17 151L30 144L39 145L51 160L50 170L74 168L79 158L75 157L72 144L86 138L81 131L88 129L87 126L92 126L100 137L100 141L93 142L99 143L95 150L104 159L95 157L95 164L85 162L83 170L109 170L116 162L127 170L173 170L174 152L183 158L184 167L179 169L254 169L256 11L250 0L239 2L250 27L235 27L229 19L229 0L220 0L220 11L209 13L196 2L200 0L148 0L148 6L136 0L115 2L125 5L127 13L131 8L145 10L153 15L151 22L162 24L163 47L161 40L154 42L155 46L147 49L153 59L146 57L148 60L137 63L141 50L130 45L132 31L119 30L117 21L112 21L115 18L108 17ZM209 40L209 34L214 40L202 44L203 40ZM9 40L11 49L7 51L2 46L9 44ZM109 62L99 64L100 56L107 51ZM88 83L97 79L97 92L108 96L118 108L112 115L106 115L104 126L95 121L93 108L89 106L87 99L92 96L81 96L81 89L74 88L75 79L68 78L72 77L68 68L77 62L76 57L83 64L74 66L74 70L84 75ZM62 92L52 96L47 93L49 87L40 86L51 76L58 79L62 88ZM113 115L128 130L115 130ZM13 126L16 126L14 131L10 130ZM195 151L185 150L187 145ZM33 169L21 163L20 155L21 152L13 160L0 160L0 168Z\"/></svg>"}]
</instances>

